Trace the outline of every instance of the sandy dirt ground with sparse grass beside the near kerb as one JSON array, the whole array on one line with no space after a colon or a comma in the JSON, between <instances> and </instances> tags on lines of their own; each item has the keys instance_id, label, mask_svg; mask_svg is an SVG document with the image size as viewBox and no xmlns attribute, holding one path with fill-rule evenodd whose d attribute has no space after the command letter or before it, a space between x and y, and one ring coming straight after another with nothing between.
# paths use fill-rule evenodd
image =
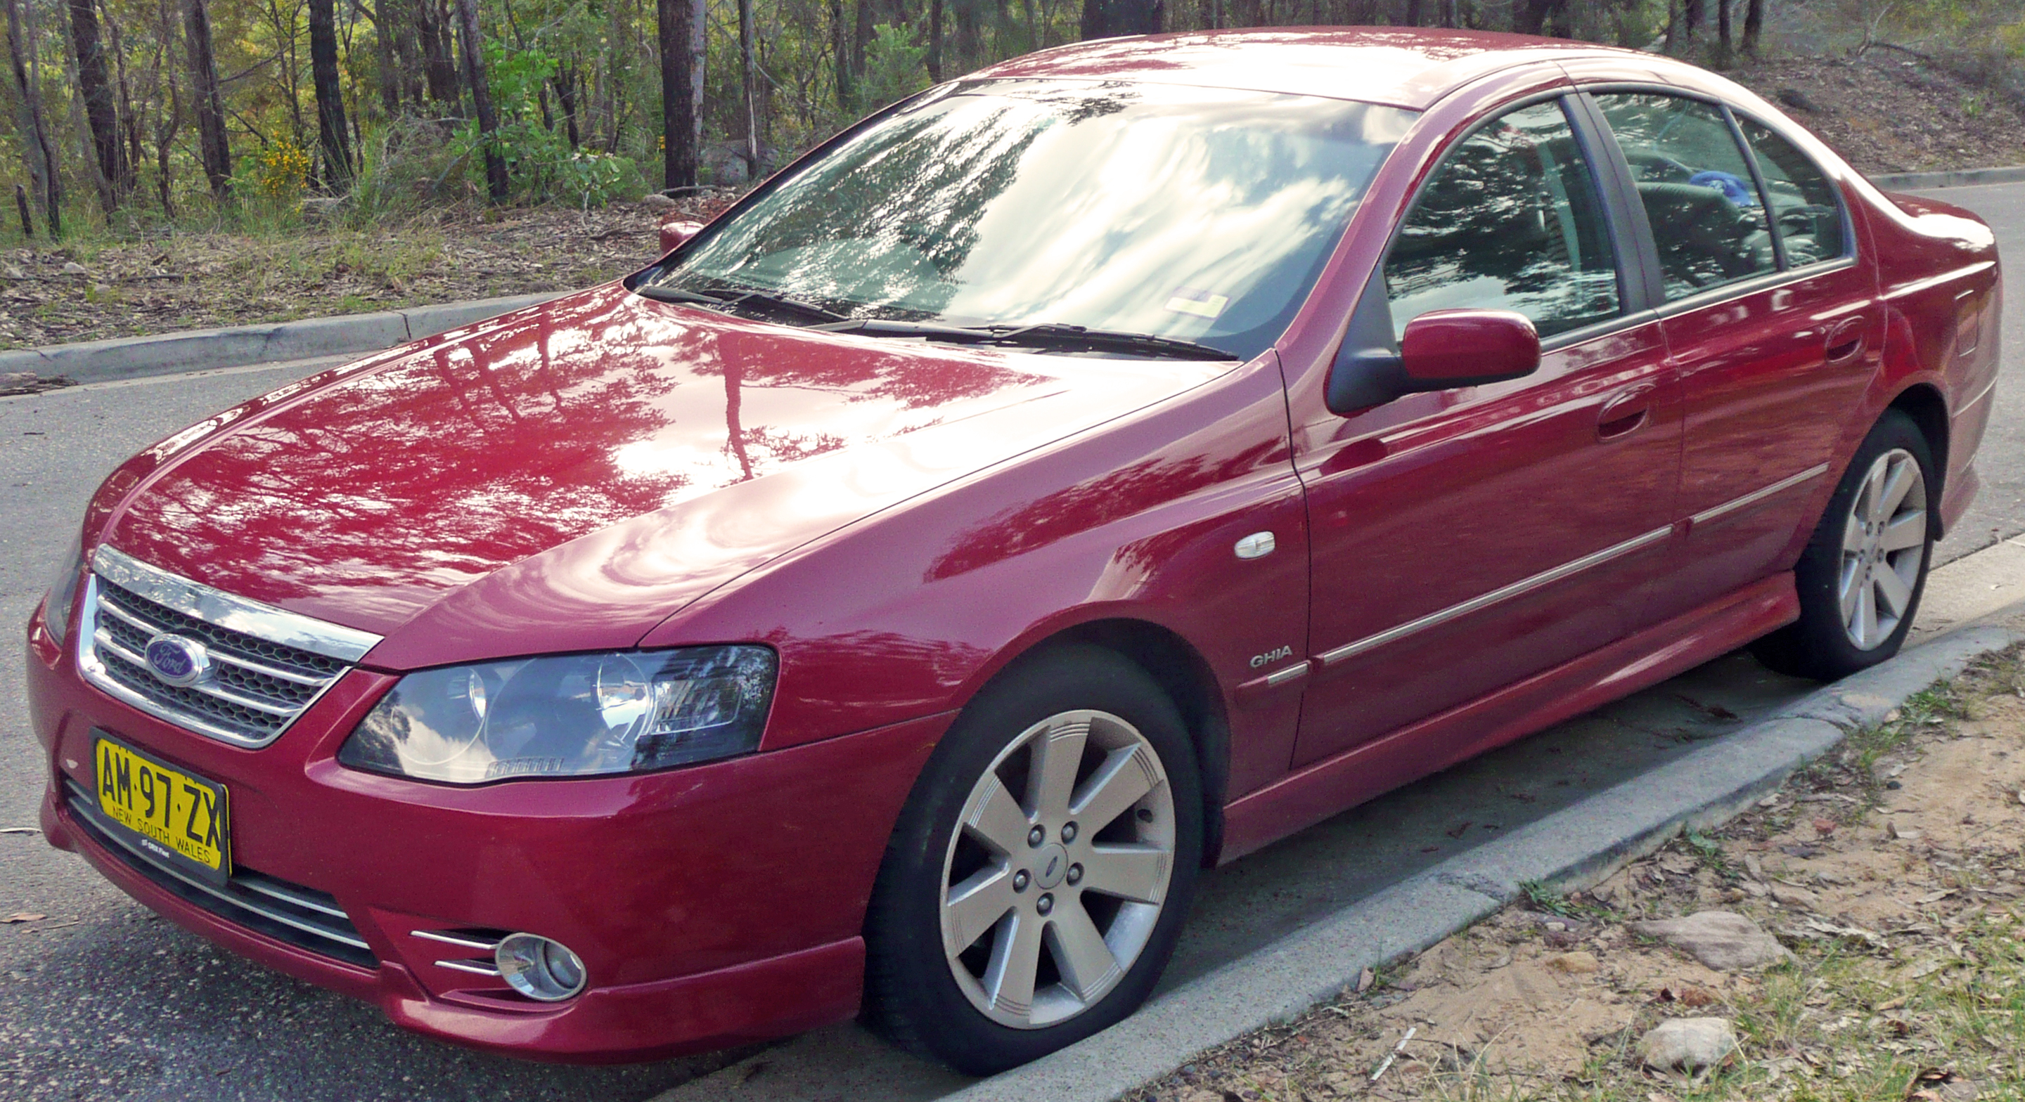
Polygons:
<instances>
[{"instance_id":1,"label":"sandy dirt ground with sparse grass beside the near kerb","mask_svg":"<svg viewBox=\"0 0 2025 1102\"><path fill-rule=\"evenodd\" d=\"M2021 837L2013 650L1721 831L1535 893L1126 1098L2025 1098ZM1711 910L1794 958L1723 972L1626 928ZM1644 1068L1638 1039L1669 1017L1729 1019L1739 1051L1693 1078Z\"/></svg>"}]
</instances>

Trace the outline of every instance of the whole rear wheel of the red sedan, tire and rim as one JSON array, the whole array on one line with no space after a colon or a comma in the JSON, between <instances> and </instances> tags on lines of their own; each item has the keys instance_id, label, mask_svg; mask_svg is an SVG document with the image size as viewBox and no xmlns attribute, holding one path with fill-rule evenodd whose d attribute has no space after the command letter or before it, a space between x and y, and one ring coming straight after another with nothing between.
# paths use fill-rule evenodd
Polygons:
<instances>
[{"instance_id":1,"label":"whole rear wheel of the red sedan, tire and rim","mask_svg":"<svg viewBox=\"0 0 2025 1102\"><path fill-rule=\"evenodd\" d=\"M1887 409L1829 498L1794 581L1800 620L1754 648L1768 666L1833 681L1897 654L1920 612L1940 500L1934 452Z\"/></svg>"}]
</instances>

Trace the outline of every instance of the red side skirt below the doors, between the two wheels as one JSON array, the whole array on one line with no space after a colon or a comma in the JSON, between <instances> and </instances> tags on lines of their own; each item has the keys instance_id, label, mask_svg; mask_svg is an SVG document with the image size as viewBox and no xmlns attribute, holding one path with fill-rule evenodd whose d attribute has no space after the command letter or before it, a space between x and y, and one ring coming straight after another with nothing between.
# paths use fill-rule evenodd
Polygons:
<instances>
[{"instance_id":1,"label":"red side skirt below the doors, between the two wheels","mask_svg":"<svg viewBox=\"0 0 2025 1102\"><path fill-rule=\"evenodd\" d=\"M1602 650L1314 762L1223 808L1217 863L1235 861L1401 784L1658 685L1798 618L1792 573L1778 573Z\"/></svg>"}]
</instances>

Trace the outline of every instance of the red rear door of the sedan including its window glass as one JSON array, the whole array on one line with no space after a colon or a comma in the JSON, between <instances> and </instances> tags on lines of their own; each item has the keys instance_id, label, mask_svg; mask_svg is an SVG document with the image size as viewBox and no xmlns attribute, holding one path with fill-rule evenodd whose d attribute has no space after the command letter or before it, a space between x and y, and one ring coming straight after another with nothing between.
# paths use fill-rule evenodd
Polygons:
<instances>
[{"instance_id":1,"label":"red rear door of the sedan including its window glass","mask_svg":"<svg viewBox=\"0 0 2025 1102\"><path fill-rule=\"evenodd\" d=\"M1790 142L1707 99L1592 95L1636 180L1681 373L1687 537L1652 604L1671 616L1792 565L1883 312L1841 196Z\"/></svg>"}]
</instances>

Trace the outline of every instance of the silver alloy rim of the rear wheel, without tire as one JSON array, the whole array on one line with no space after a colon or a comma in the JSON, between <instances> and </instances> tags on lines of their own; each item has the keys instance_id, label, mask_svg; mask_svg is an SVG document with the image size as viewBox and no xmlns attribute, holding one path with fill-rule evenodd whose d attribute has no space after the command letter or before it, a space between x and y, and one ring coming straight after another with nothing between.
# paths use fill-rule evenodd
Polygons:
<instances>
[{"instance_id":1,"label":"silver alloy rim of the rear wheel, without tire","mask_svg":"<svg viewBox=\"0 0 2025 1102\"><path fill-rule=\"evenodd\" d=\"M1857 650L1883 646L1912 608L1926 535L1926 472L1912 452L1893 448L1865 472L1843 525L1837 596Z\"/></svg>"}]
</instances>

